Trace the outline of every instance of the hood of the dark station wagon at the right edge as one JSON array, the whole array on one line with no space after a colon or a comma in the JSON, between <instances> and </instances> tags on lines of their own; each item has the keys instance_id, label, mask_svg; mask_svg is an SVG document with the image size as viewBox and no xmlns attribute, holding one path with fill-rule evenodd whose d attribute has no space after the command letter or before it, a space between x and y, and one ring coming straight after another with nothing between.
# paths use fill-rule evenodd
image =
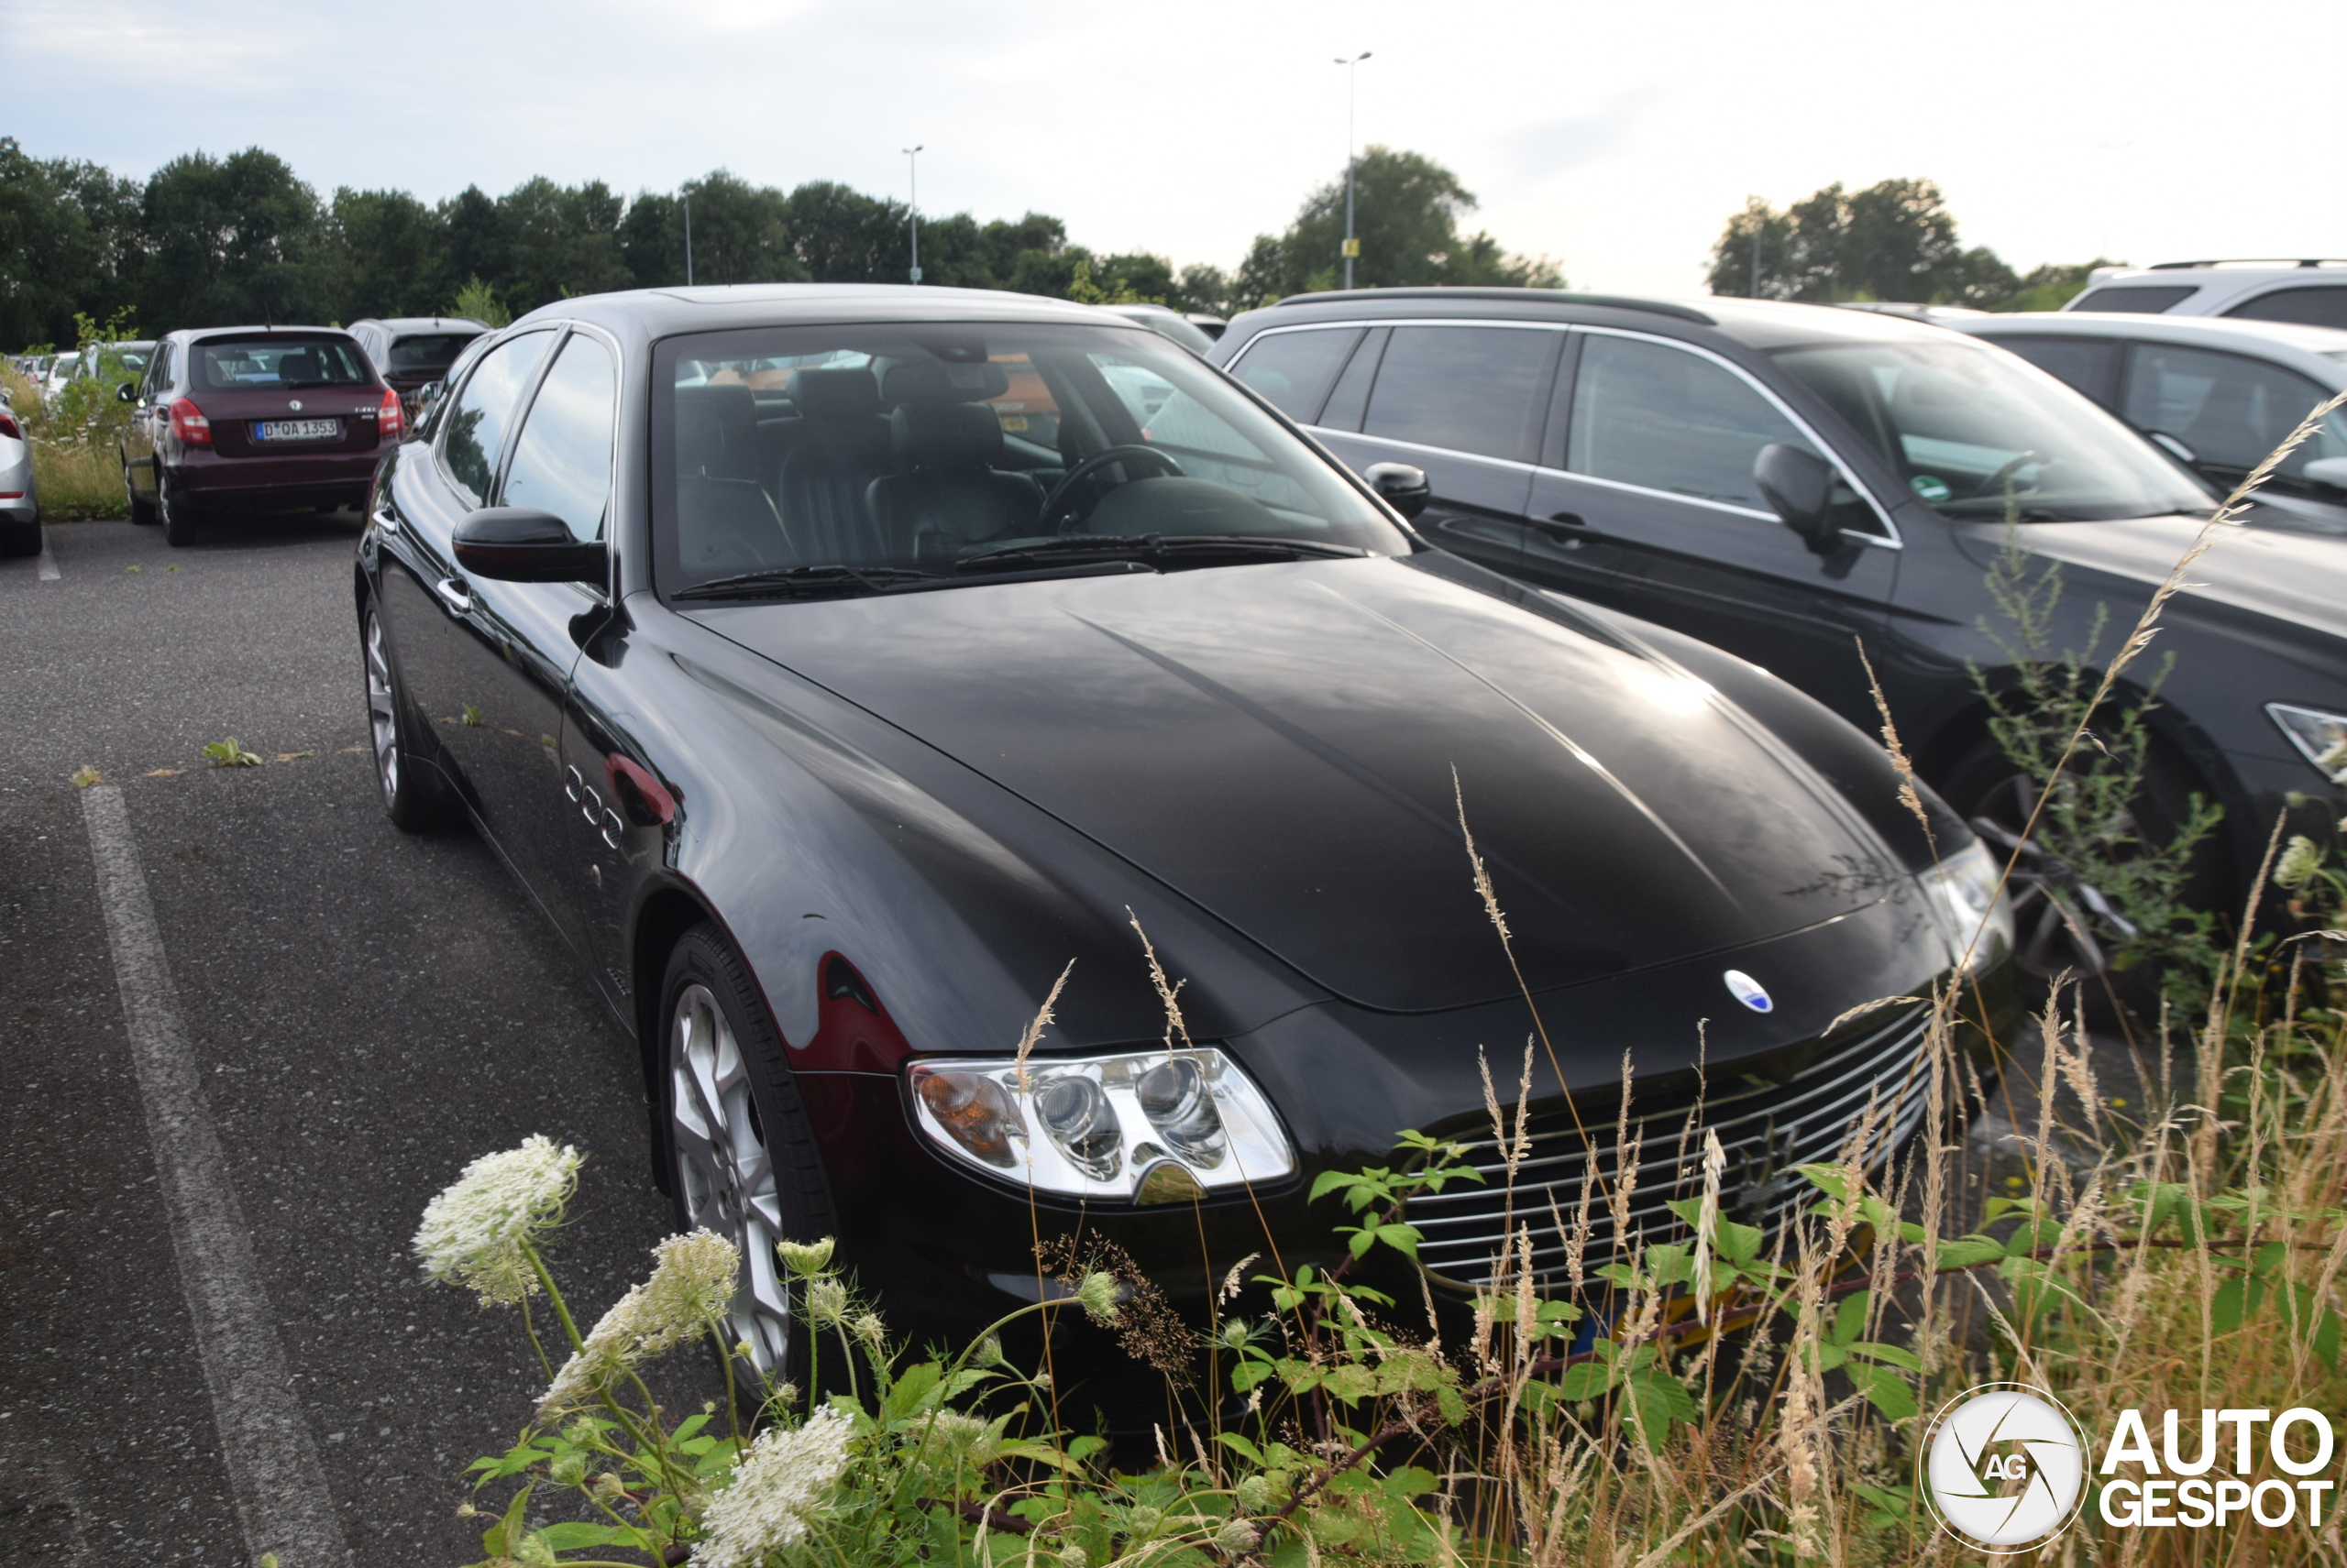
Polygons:
<instances>
[{"instance_id":1,"label":"hood of the dark station wagon at the right edge","mask_svg":"<svg viewBox=\"0 0 2347 1568\"><path fill-rule=\"evenodd\" d=\"M2131 516L2108 523L2023 523L2021 542L2054 561L2159 587L2201 533L2197 516ZM1971 528L1976 559L2004 545L2004 526ZM2347 636L2347 545L2284 528L2220 528L2187 573L2187 599Z\"/></svg>"}]
</instances>

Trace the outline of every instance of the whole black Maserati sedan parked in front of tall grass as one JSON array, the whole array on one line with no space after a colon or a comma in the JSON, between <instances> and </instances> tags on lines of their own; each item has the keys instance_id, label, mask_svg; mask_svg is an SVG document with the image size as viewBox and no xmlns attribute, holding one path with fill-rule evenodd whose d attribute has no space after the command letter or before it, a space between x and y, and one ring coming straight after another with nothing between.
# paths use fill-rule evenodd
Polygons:
<instances>
[{"instance_id":1,"label":"whole black Maserati sedan parked in front of tall grass","mask_svg":"<svg viewBox=\"0 0 2347 1568\"><path fill-rule=\"evenodd\" d=\"M1917 1009L1845 1014L1964 967L1995 995L1997 866L1791 685L1432 549L1422 495L1077 305L563 300L378 477L383 798L469 817L577 948L767 1354L777 1237L836 1232L911 1331L1033 1300L1037 1232L1176 1300L1331 1256L1319 1171L1488 1143L1519 967L1554 1040L1519 1218L1580 1192L1565 1091L1608 1157L1624 1052L1669 1131L1631 1223L1697 1082L1734 1207L1781 1214L1868 1103L1885 1145L1915 1124ZM1413 1207L1439 1284L1486 1277L1507 1204Z\"/></svg>"}]
</instances>

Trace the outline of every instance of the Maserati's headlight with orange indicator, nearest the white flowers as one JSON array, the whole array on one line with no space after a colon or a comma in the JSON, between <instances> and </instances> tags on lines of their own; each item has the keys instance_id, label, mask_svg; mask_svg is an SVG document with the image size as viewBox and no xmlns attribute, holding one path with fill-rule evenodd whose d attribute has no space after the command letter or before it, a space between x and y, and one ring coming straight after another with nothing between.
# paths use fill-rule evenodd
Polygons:
<instances>
[{"instance_id":1,"label":"Maserati's headlight with orange indicator, nearest the white flowers","mask_svg":"<svg viewBox=\"0 0 2347 1568\"><path fill-rule=\"evenodd\" d=\"M1296 1171L1279 1117L1218 1049L915 1061L929 1143L1037 1192L1164 1204Z\"/></svg>"}]
</instances>

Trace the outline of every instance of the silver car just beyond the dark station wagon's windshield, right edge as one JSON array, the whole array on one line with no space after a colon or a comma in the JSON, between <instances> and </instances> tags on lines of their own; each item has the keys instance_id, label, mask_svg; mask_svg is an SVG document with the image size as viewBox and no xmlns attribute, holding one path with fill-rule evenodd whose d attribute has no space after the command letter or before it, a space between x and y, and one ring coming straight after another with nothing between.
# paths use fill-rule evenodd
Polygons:
<instances>
[{"instance_id":1,"label":"silver car just beyond the dark station wagon's windshield, right edge","mask_svg":"<svg viewBox=\"0 0 2347 1568\"><path fill-rule=\"evenodd\" d=\"M2347 390L2347 331L2223 317L2016 312L1946 322L2063 378L2232 491L2316 404ZM2347 535L2347 411L2260 491L2265 514Z\"/></svg>"}]
</instances>

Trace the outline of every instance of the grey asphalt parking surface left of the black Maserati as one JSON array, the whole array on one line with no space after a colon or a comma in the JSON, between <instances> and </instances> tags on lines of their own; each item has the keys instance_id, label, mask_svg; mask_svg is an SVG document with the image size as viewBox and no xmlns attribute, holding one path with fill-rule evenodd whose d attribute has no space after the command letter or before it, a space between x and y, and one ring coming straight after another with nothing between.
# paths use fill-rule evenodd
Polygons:
<instances>
[{"instance_id":1,"label":"grey asphalt parking surface left of the black Maserati","mask_svg":"<svg viewBox=\"0 0 2347 1568\"><path fill-rule=\"evenodd\" d=\"M462 1469L514 1439L542 1373L512 1312L420 1279L425 1202L533 1131L577 1143L556 1272L587 1314L667 1235L641 1075L568 948L472 833L383 817L354 538L347 514L192 549L63 523L45 559L0 561L0 1561L263 1549L221 1385L251 1364L190 1305L207 1258L249 1291L228 1338L279 1357L289 1399L258 1392L314 1455L347 1561L476 1561ZM230 735L263 763L209 765ZM181 1080L131 1012L82 768L120 791L176 998L192 1087L164 1106ZM190 1167L153 1136L181 1122L214 1138L235 1237L188 1228ZM669 1376L699 1399L697 1361Z\"/></svg>"}]
</instances>

